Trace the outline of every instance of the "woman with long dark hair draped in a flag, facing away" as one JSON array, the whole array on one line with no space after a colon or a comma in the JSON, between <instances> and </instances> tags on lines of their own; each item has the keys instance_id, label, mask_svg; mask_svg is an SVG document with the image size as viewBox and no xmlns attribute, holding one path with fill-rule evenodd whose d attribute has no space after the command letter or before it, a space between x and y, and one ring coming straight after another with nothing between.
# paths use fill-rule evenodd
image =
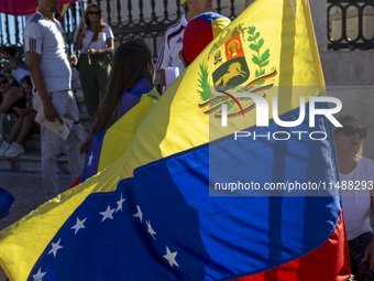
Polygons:
<instances>
[{"instance_id":1,"label":"woman with long dark hair draped in a flag, facing away","mask_svg":"<svg viewBox=\"0 0 374 281\"><path fill-rule=\"evenodd\" d=\"M134 107L143 94L153 90L154 79L155 66L145 43L139 40L123 43L116 51L107 94L98 109L91 136L82 144L81 151L87 152L95 136Z\"/></svg>"}]
</instances>

